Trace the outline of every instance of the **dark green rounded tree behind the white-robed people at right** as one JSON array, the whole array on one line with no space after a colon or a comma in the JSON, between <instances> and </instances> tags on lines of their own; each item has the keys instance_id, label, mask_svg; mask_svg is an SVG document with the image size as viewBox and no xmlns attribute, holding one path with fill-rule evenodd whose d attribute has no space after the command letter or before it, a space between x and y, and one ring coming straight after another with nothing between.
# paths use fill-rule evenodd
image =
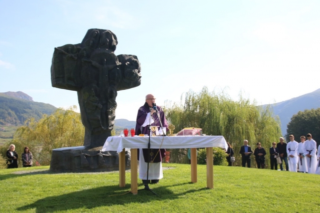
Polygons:
<instances>
[{"instance_id":1,"label":"dark green rounded tree behind the white-robed people at right","mask_svg":"<svg viewBox=\"0 0 320 213\"><path fill-rule=\"evenodd\" d=\"M320 108L306 109L293 115L287 125L286 132L286 141L290 141L289 135L294 135L295 140L299 141L300 136L310 133L318 146L320 144Z\"/></svg>"}]
</instances>

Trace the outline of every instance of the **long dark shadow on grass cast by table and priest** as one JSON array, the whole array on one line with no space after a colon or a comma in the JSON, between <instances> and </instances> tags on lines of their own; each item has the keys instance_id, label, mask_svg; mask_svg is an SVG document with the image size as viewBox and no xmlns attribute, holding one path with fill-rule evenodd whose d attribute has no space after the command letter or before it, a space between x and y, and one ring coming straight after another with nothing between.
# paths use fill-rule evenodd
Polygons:
<instances>
[{"instance_id":1,"label":"long dark shadow on grass cast by table and priest","mask_svg":"<svg viewBox=\"0 0 320 213\"><path fill-rule=\"evenodd\" d=\"M172 186L182 186L188 185L190 182L181 183ZM33 204L29 204L23 207L19 207L17 211L27 211L29 209L35 209L36 213L51 213L56 211L67 211L76 209L92 209L98 207L110 207L115 205L125 205L130 203L149 203L152 201L163 201L166 199L178 199L179 196L185 195L187 193L198 192L201 190L206 190L206 188L201 189L190 189L183 190L178 194L173 193L168 188L171 186L159 186L149 185L153 192L158 196L153 195L151 192L142 190L139 191L137 195L132 195L130 192L123 188L119 188L118 185L98 187L89 190L83 190L79 192L72 192L59 196L52 196L40 199ZM130 188L130 185L126 185L125 189ZM144 186L139 186L139 189L143 189ZM123 195L124 194L124 195Z\"/></svg>"}]
</instances>

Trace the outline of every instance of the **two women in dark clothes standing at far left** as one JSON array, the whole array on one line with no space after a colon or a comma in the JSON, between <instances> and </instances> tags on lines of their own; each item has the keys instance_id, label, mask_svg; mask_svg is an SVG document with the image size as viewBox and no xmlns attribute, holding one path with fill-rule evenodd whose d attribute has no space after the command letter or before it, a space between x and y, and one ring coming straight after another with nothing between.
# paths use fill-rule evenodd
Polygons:
<instances>
[{"instance_id":1,"label":"two women in dark clothes standing at far left","mask_svg":"<svg viewBox=\"0 0 320 213\"><path fill-rule=\"evenodd\" d=\"M28 147L24 148L24 152L21 156L22 166L23 167L31 167L32 166L32 153L30 152ZM6 151L6 164L7 169L18 168L18 154L15 152L15 146L11 144Z\"/></svg>"}]
</instances>

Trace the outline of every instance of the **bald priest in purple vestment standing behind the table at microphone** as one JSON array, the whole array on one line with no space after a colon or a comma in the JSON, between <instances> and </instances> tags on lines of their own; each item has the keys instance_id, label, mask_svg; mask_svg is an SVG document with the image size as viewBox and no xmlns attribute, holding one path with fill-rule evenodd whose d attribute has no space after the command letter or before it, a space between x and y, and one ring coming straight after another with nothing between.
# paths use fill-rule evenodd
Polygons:
<instances>
[{"instance_id":1,"label":"bald priest in purple vestment standing behind the table at microphone","mask_svg":"<svg viewBox=\"0 0 320 213\"><path fill-rule=\"evenodd\" d=\"M160 128L160 121L162 123L163 131ZM155 106L155 97L152 94L145 96L145 103L138 110L136 116L135 135L144 134L148 135L150 129L148 126L157 126L156 132L158 135L162 135L167 131L167 122L164 116L164 112L159 106ZM159 150L159 151L158 151ZM150 149L150 155L148 156L147 149L139 149L139 179L143 184L148 184L151 180L152 184L159 182L159 179L163 178L162 174L162 158L165 157L165 149ZM147 162L149 164L148 181L146 181Z\"/></svg>"}]
</instances>

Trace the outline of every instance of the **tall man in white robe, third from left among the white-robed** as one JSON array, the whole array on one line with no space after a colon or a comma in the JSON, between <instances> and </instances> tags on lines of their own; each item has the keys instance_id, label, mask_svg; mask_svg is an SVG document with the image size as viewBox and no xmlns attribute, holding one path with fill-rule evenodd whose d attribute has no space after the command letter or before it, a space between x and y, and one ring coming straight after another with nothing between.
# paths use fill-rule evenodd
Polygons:
<instances>
[{"instance_id":1,"label":"tall man in white robe, third from left among the white-robed","mask_svg":"<svg viewBox=\"0 0 320 213\"><path fill-rule=\"evenodd\" d=\"M303 153L306 157L306 166L308 168L308 173L315 174L316 169L316 142L312 139L310 133L306 135L307 140L304 142Z\"/></svg>"}]
</instances>

